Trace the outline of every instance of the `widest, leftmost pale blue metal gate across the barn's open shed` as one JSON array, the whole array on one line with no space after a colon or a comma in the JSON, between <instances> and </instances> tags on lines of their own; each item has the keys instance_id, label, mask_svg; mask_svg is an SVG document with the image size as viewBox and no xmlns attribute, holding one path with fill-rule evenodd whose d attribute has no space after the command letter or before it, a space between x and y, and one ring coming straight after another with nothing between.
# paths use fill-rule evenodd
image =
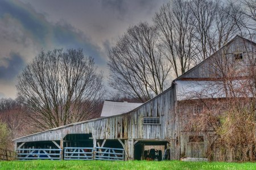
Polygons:
<instances>
[{"instance_id":1,"label":"widest, leftmost pale blue metal gate across the barn's open shed","mask_svg":"<svg viewBox=\"0 0 256 170\"><path fill-rule=\"evenodd\" d=\"M33 159L48 159L61 160L61 149L17 149L17 159L33 160Z\"/></svg>"}]
</instances>

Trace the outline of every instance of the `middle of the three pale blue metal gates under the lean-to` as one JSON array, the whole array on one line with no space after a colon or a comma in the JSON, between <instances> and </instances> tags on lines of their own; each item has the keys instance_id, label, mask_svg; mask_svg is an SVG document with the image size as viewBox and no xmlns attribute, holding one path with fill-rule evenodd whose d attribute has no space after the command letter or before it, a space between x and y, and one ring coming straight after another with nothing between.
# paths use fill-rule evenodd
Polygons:
<instances>
[{"instance_id":1,"label":"middle of the three pale blue metal gates under the lean-to","mask_svg":"<svg viewBox=\"0 0 256 170\"><path fill-rule=\"evenodd\" d=\"M65 147L64 160L93 160L93 148Z\"/></svg>"}]
</instances>

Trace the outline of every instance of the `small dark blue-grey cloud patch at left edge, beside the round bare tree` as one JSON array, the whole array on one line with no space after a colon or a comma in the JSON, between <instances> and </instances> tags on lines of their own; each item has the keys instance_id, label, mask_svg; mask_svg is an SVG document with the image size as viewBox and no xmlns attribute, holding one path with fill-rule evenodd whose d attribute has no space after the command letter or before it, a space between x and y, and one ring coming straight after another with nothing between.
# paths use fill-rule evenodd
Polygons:
<instances>
[{"instance_id":1,"label":"small dark blue-grey cloud patch at left edge, beside the round bare tree","mask_svg":"<svg viewBox=\"0 0 256 170\"><path fill-rule=\"evenodd\" d=\"M13 80L22 71L25 63L19 53L10 53L2 59L4 65L0 66L0 80Z\"/></svg>"}]
</instances>

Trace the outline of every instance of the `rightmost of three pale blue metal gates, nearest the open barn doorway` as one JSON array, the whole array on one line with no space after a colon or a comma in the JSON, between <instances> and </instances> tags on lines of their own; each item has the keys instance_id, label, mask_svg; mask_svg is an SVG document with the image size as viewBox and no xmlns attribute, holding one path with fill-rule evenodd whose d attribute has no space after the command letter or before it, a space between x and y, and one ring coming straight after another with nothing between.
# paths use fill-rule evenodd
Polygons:
<instances>
[{"instance_id":1,"label":"rightmost of three pale blue metal gates, nearest the open barn doorway","mask_svg":"<svg viewBox=\"0 0 256 170\"><path fill-rule=\"evenodd\" d=\"M120 148L95 148L95 160L125 160L125 150Z\"/></svg>"}]
</instances>

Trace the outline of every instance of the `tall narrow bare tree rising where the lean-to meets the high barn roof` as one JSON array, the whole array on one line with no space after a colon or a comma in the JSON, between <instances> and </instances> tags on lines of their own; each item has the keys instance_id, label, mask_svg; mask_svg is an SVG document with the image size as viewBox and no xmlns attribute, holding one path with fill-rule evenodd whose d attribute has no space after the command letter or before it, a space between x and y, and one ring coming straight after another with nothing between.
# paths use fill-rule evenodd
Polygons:
<instances>
[{"instance_id":1,"label":"tall narrow bare tree rising where the lean-to meets the high barn roof","mask_svg":"<svg viewBox=\"0 0 256 170\"><path fill-rule=\"evenodd\" d=\"M192 11L187 1L175 0L163 5L154 22L160 32L160 40L166 49L176 77L191 68L194 60L193 36L195 34Z\"/></svg>"}]
</instances>

